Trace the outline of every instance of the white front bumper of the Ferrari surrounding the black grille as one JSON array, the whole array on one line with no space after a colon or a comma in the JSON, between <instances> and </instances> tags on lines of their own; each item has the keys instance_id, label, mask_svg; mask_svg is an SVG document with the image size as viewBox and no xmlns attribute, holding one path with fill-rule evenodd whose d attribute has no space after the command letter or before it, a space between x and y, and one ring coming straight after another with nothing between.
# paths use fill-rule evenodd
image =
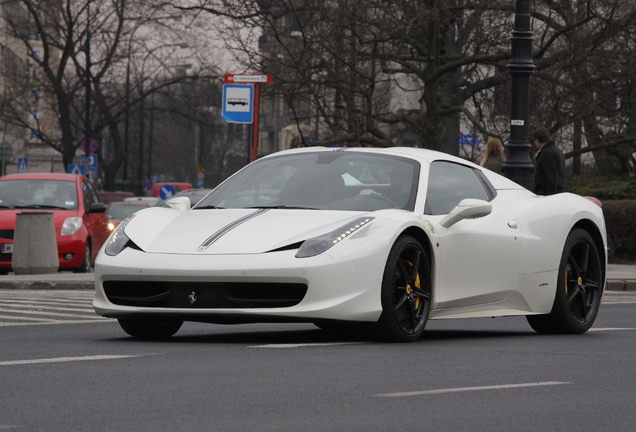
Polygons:
<instances>
[{"instance_id":1,"label":"white front bumper of the Ferrari surrounding the black grille","mask_svg":"<svg viewBox=\"0 0 636 432\"><path fill-rule=\"evenodd\" d=\"M99 315L114 318L165 315L208 322L377 321L387 259L383 251L385 248L376 245L357 248L346 256L323 253L311 258L296 258L295 250L182 255L128 248L115 257L100 252L93 306ZM286 287L303 286L306 292L296 294L298 301L257 301L285 297ZM274 294L260 293L261 289Z\"/></svg>"}]
</instances>

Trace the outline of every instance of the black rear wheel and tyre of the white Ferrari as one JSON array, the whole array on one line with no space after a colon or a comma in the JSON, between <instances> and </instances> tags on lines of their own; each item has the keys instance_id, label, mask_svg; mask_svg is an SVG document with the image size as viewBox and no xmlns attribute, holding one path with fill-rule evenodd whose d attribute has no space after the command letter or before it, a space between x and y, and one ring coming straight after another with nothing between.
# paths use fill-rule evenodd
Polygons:
<instances>
[{"instance_id":1,"label":"black rear wheel and tyre of the white Ferrari","mask_svg":"<svg viewBox=\"0 0 636 432\"><path fill-rule=\"evenodd\" d=\"M529 315L528 323L538 333L581 334L592 327L603 295L601 255L592 236L576 228L570 232L559 265L552 311Z\"/></svg>"}]
</instances>

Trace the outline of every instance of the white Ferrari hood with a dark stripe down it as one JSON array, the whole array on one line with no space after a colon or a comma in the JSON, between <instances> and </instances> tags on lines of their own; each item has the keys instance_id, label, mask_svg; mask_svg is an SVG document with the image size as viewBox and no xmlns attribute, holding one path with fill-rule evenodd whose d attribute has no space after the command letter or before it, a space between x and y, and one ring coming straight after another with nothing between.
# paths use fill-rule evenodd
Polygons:
<instances>
[{"instance_id":1,"label":"white Ferrari hood with a dark stripe down it","mask_svg":"<svg viewBox=\"0 0 636 432\"><path fill-rule=\"evenodd\" d=\"M142 210L126 225L148 253L258 254L328 233L361 212L296 209Z\"/></svg>"}]
</instances>

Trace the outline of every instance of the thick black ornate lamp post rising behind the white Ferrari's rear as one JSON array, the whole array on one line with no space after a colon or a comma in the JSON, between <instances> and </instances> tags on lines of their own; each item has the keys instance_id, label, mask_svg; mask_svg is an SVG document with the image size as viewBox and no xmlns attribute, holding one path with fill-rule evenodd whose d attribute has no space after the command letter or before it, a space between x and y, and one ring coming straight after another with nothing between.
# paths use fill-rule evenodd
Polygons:
<instances>
[{"instance_id":1,"label":"thick black ornate lamp post rising behind the white Ferrari's rear","mask_svg":"<svg viewBox=\"0 0 636 432\"><path fill-rule=\"evenodd\" d=\"M532 145L528 142L528 99L532 62L532 28L530 0L516 0L515 26L512 31L512 51L508 73L512 77L510 103L510 141L503 172L509 179L532 190L534 165L530 158Z\"/></svg>"}]
</instances>

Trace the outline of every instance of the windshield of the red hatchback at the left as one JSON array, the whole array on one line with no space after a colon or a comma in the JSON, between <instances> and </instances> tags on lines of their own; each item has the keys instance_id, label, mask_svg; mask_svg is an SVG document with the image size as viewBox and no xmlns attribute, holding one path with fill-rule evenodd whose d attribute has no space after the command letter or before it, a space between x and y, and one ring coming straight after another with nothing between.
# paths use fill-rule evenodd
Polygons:
<instances>
[{"instance_id":1,"label":"windshield of the red hatchback at the left","mask_svg":"<svg viewBox=\"0 0 636 432\"><path fill-rule=\"evenodd\" d=\"M0 209L77 210L75 182L45 179L0 181Z\"/></svg>"}]
</instances>

